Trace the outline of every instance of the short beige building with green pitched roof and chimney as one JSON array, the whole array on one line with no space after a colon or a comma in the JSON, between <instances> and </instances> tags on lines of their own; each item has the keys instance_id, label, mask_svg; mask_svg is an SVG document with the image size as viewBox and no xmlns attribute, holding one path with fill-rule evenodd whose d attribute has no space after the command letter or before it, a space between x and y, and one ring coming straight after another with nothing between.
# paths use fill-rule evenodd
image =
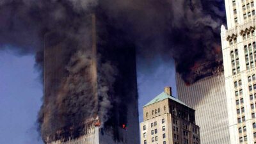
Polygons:
<instances>
[{"instance_id":1,"label":"short beige building with green pitched roof and chimney","mask_svg":"<svg viewBox=\"0 0 256 144\"><path fill-rule=\"evenodd\" d=\"M140 123L141 144L200 143L200 132L195 124L195 110L172 96L172 88L143 106Z\"/></svg>"}]
</instances>

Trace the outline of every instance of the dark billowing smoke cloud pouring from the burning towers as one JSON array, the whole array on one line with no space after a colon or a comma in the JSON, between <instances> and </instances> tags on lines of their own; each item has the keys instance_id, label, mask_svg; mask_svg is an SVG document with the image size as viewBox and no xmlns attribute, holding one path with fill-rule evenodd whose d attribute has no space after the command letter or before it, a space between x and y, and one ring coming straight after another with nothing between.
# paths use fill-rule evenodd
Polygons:
<instances>
[{"instance_id":1,"label":"dark billowing smoke cloud pouring from the burning towers","mask_svg":"<svg viewBox=\"0 0 256 144\"><path fill-rule=\"evenodd\" d=\"M221 0L1 0L0 49L11 45L21 54L36 54L38 67L47 69L39 118L45 136L95 114L105 122L110 109L128 99L115 97L116 77L122 77L116 67L121 66L115 54L106 54L108 47L136 47L146 61L156 54L172 57L185 81L191 81L196 63L221 61L223 10ZM99 99L92 97L92 13L97 17Z\"/></svg>"}]
</instances>

